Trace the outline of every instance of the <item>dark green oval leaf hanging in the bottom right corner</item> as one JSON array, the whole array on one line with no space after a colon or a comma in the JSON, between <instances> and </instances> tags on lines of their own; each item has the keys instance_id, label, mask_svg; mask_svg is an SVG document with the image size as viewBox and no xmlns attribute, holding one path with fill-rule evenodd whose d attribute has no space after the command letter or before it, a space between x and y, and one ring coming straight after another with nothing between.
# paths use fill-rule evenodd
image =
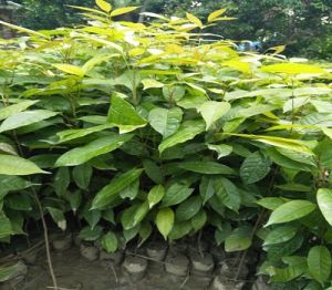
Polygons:
<instances>
[{"instance_id":1,"label":"dark green oval leaf hanging in the bottom right corner","mask_svg":"<svg viewBox=\"0 0 332 290\"><path fill-rule=\"evenodd\" d=\"M328 281L331 275L331 253L324 246L314 246L308 255L309 271L320 283Z\"/></svg>"}]
</instances>

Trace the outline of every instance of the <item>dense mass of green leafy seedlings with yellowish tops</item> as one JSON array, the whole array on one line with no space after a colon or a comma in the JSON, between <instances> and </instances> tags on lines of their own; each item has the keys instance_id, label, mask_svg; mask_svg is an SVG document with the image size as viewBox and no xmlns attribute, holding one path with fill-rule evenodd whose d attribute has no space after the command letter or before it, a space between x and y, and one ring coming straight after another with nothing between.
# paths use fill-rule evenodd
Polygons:
<instances>
[{"instance_id":1,"label":"dense mass of green leafy seedlings with yellowish tops","mask_svg":"<svg viewBox=\"0 0 332 290\"><path fill-rule=\"evenodd\" d=\"M227 252L262 245L272 282L329 287L331 64L207 41L224 10L143 24L96 2L89 25L1 41L1 240L38 194L108 251L209 228Z\"/></svg>"}]
</instances>

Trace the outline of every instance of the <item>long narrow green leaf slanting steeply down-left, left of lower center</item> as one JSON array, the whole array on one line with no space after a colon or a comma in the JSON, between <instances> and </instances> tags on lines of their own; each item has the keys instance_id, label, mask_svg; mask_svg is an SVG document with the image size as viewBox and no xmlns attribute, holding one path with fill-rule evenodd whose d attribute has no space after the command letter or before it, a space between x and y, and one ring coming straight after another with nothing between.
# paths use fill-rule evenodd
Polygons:
<instances>
[{"instance_id":1,"label":"long narrow green leaf slanting steeply down-left, left of lower center","mask_svg":"<svg viewBox=\"0 0 332 290\"><path fill-rule=\"evenodd\" d=\"M108 205L114 196L126 188L131 183L135 182L143 169L131 169L111 180L108 185L100 190L92 203L92 208L101 208Z\"/></svg>"}]
</instances>

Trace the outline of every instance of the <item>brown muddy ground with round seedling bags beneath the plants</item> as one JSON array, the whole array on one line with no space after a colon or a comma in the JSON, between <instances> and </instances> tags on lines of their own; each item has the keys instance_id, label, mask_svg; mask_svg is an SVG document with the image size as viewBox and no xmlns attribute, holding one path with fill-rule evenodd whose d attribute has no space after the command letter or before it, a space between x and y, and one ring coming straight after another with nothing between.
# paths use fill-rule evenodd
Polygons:
<instances>
[{"instance_id":1,"label":"brown muddy ground with round seedling bags beneath the plants","mask_svg":"<svg viewBox=\"0 0 332 290\"><path fill-rule=\"evenodd\" d=\"M162 248L167 247L160 245ZM167 247L160 253L148 252L147 246L138 251L135 248L127 249L123 255L117 255L116 258L111 255L110 258L98 250L87 251L86 256L84 247L72 244L70 248L64 246L63 249L52 249L59 290L237 290L252 289L255 280L250 273L255 265L246 263L239 281L235 282L239 260L225 256L221 249L207 250L181 245ZM23 280L0 284L0 290L54 289L46 266L45 250L41 248L37 251L35 260L30 258L24 262L28 265L28 275ZM166 253L163 255L163 251Z\"/></svg>"}]
</instances>

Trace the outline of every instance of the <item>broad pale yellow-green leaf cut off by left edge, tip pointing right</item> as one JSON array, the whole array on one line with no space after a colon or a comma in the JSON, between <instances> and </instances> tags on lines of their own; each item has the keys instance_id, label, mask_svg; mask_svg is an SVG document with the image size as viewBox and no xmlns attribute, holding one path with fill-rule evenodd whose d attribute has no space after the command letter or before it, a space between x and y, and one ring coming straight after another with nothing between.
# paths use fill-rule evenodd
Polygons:
<instances>
[{"instance_id":1,"label":"broad pale yellow-green leaf cut off by left edge, tip pointing right","mask_svg":"<svg viewBox=\"0 0 332 290\"><path fill-rule=\"evenodd\" d=\"M0 154L0 174L3 175L31 175L45 174L34 163L23 159L19 156Z\"/></svg>"}]
</instances>

